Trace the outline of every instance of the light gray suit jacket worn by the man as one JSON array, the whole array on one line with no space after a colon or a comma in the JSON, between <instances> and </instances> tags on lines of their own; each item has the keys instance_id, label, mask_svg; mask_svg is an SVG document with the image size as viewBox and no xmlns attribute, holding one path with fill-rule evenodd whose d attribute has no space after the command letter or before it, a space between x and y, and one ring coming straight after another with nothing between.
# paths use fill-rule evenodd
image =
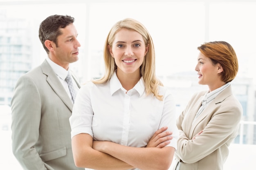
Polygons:
<instances>
[{"instance_id":1,"label":"light gray suit jacket worn by the man","mask_svg":"<svg viewBox=\"0 0 256 170\"><path fill-rule=\"evenodd\" d=\"M72 155L73 103L48 62L22 75L13 92L12 149L22 168L84 170L74 165Z\"/></svg>"}]
</instances>

